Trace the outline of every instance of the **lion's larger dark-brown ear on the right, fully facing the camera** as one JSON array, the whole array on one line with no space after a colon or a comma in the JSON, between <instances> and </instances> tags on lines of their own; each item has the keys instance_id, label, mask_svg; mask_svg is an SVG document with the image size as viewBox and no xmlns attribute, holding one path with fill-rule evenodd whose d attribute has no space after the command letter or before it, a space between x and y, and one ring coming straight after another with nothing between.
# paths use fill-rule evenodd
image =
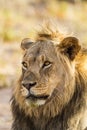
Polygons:
<instances>
[{"instance_id":1,"label":"lion's larger dark-brown ear on the right, fully facing the camera","mask_svg":"<svg viewBox=\"0 0 87 130\"><path fill-rule=\"evenodd\" d=\"M81 49L79 40L75 37L64 38L58 46L61 53L67 55L71 60L74 60L75 56Z\"/></svg>"}]
</instances>

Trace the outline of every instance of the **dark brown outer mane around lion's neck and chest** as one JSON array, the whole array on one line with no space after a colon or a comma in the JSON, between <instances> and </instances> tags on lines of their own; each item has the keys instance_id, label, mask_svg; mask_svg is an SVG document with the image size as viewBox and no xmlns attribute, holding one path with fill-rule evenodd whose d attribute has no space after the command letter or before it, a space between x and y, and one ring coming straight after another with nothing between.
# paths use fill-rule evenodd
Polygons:
<instances>
[{"instance_id":1,"label":"dark brown outer mane around lion's neck and chest","mask_svg":"<svg viewBox=\"0 0 87 130\"><path fill-rule=\"evenodd\" d=\"M77 76L76 76L76 83L75 83L76 84L75 92L74 92L70 102L68 104L66 104L64 106L62 112L59 113L59 117L55 117L55 120L57 120L57 122L62 122L62 125L59 125L59 130L61 130L62 128L64 128L64 130L66 130L67 122L70 120L70 118L72 119L72 116L75 115L76 113L78 113L78 115L79 115L79 113L81 111L83 111L82 106L85 107L84 93L86 91L87 83L84 82L84 78L82 77L82 75L80 73L77 73L76 75ZM38 130L38 128L43 129L43 127L45 127L45 125L46 125L46 122L49 123L49 119L51 119L51 117L50 118L44 117L44 119L41 120L41 116L42 116L41 115L38 118L39 124L37 124L37 123L33 124L33 121L37 120L37 117L35 117L35 115L34 115L34 118L33 118L33 117L29 117L28 115L26 115L24 110L22 108L20 109L20 106L15 101L14 96L12 97L12 113L13 113L13 116L15 117L15 119L14 119L15 123L13 123L13 126L12 126L14 128L14 130L17 130L17 128L18 128L18 130L20 128L22 130L23 126L24 126L23 130L28 130L29 124L30 124L31 130L33 130L33 129ZM15 128L16 122L17 122L18 126ZM20 122L22 124L21 126L20 126ZM28 125L25 125L25 122L27 122ZM35 122L37 122L37 121L35 121ZM52 123L53 123L53 121L52 121ZM37 126L35 126L35 125L37 125ZM36 127L37 127L37 129L36 129ZM49 127L49 130L51 130L50 123L49 123L48 127ZM56 128L56 125L55 125L55 128ZM43 130L45 130L45 129L43 129Z\"/></svg>"}]
</instances>

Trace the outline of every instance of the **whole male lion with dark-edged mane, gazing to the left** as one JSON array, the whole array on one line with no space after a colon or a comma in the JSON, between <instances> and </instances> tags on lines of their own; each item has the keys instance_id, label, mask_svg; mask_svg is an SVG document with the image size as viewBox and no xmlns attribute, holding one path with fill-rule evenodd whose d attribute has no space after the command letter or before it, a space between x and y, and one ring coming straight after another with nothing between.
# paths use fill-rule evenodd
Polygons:
<instances>
[{"instance_id":1,"label":"whole male lion with dark-edged mane, gazing to the left","mask_svg":"<svg viewBox=\"0 0 87 130\"><path fill-rule=\"evenodd\" d=\"M49 26L21 42L22 74L11 100L12 130L87 129L87 50Z\"/></svg>"}]
</instances>

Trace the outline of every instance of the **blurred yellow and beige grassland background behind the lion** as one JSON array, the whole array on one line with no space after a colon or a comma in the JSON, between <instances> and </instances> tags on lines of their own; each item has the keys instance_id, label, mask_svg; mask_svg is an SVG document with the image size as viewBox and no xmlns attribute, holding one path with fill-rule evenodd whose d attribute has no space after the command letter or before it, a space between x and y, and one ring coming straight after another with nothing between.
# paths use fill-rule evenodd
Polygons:
<instances>
[{"instance_id":1,"label":"blurred yellow and beige grassland background behind the lion","mask_svg":"<svg viewBox=\"0 0 87 130\"><path fill-rule=\"evenodd\" d=\"M21 72L21 40L45 19L58 22L87 46L87 0L0 0L0 130L10 130L11 88Z\"/></svg>"}]
</instances>

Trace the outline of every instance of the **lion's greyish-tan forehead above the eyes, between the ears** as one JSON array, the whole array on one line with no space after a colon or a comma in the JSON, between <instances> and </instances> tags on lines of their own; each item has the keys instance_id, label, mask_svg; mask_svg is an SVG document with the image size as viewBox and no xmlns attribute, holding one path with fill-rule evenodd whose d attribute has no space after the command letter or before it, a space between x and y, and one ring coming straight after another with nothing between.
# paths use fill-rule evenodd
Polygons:
<instances>
[{"instance_id":1,"label":"lion's greyish-tan forehead above the eyes, between the ears","mask_svg":"<svg viewBox=\"0 0 87 130\"><path fill-rule=\"evenodd\" d=\"M56 55L53 43L37 42L27 50L26 55L24 57L33 58L39 57L40 55L44 55L45 57L54 59Z\"/></svg>"}]
</instances>

